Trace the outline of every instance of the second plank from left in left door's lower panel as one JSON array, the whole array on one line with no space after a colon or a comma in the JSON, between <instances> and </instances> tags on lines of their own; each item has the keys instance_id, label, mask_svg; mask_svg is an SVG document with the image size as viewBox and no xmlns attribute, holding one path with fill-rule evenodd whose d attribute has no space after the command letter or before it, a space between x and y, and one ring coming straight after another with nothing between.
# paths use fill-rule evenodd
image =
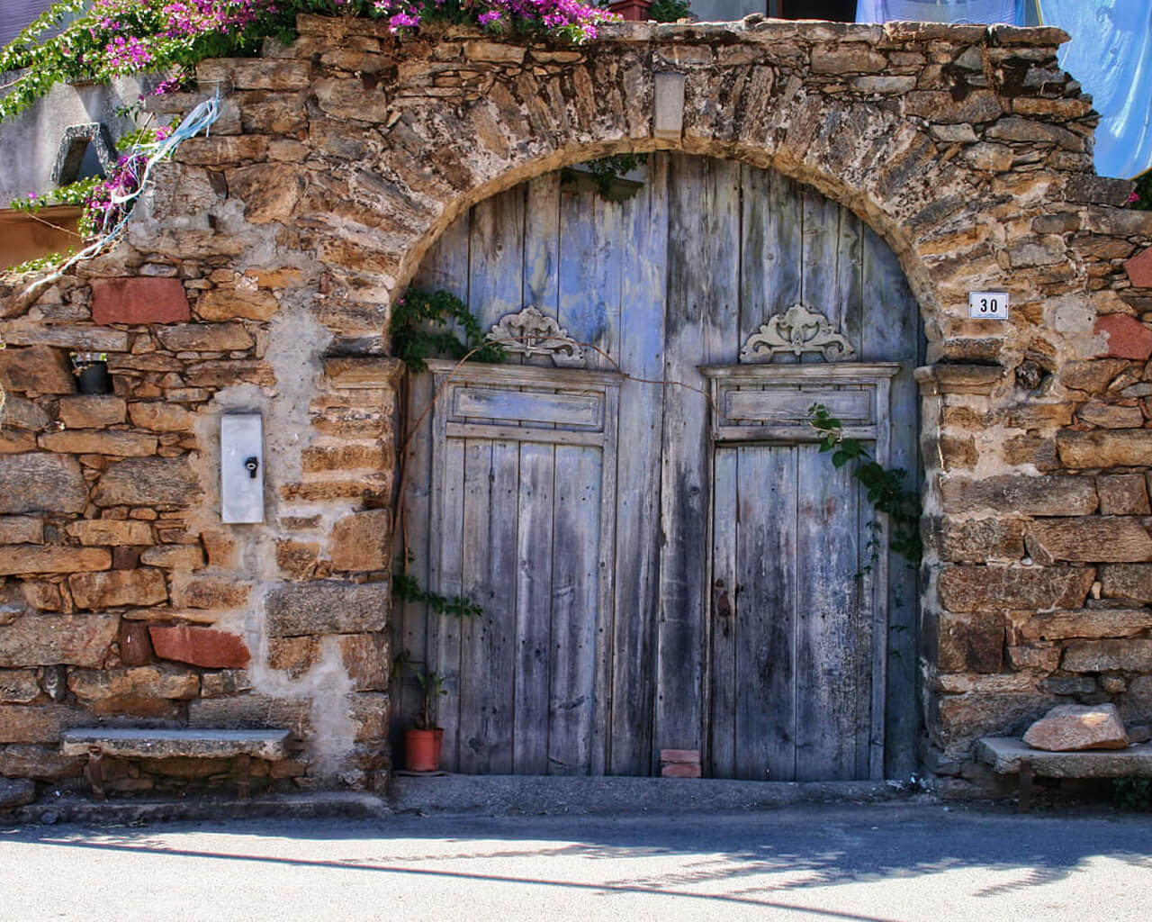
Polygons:
<instances>
[{"instance_id":1,"label":"second plank from left in left door's lower panel","mask_svg":"<svg viewBox=\"0 0 1152 922\"><path fill-rule=\"evenodd\" d=\"M492 443L469 439L464 444L464 515L461 585L464 595L482 604L488 595L492 519ZM487 704L487 651L485 615L465 617L460 624L460 687L457 692L456 770L468 774L491 771L491 741L485 731ZM448 741L446 741L447 743Z\"/></svg>"}]
</instances>

